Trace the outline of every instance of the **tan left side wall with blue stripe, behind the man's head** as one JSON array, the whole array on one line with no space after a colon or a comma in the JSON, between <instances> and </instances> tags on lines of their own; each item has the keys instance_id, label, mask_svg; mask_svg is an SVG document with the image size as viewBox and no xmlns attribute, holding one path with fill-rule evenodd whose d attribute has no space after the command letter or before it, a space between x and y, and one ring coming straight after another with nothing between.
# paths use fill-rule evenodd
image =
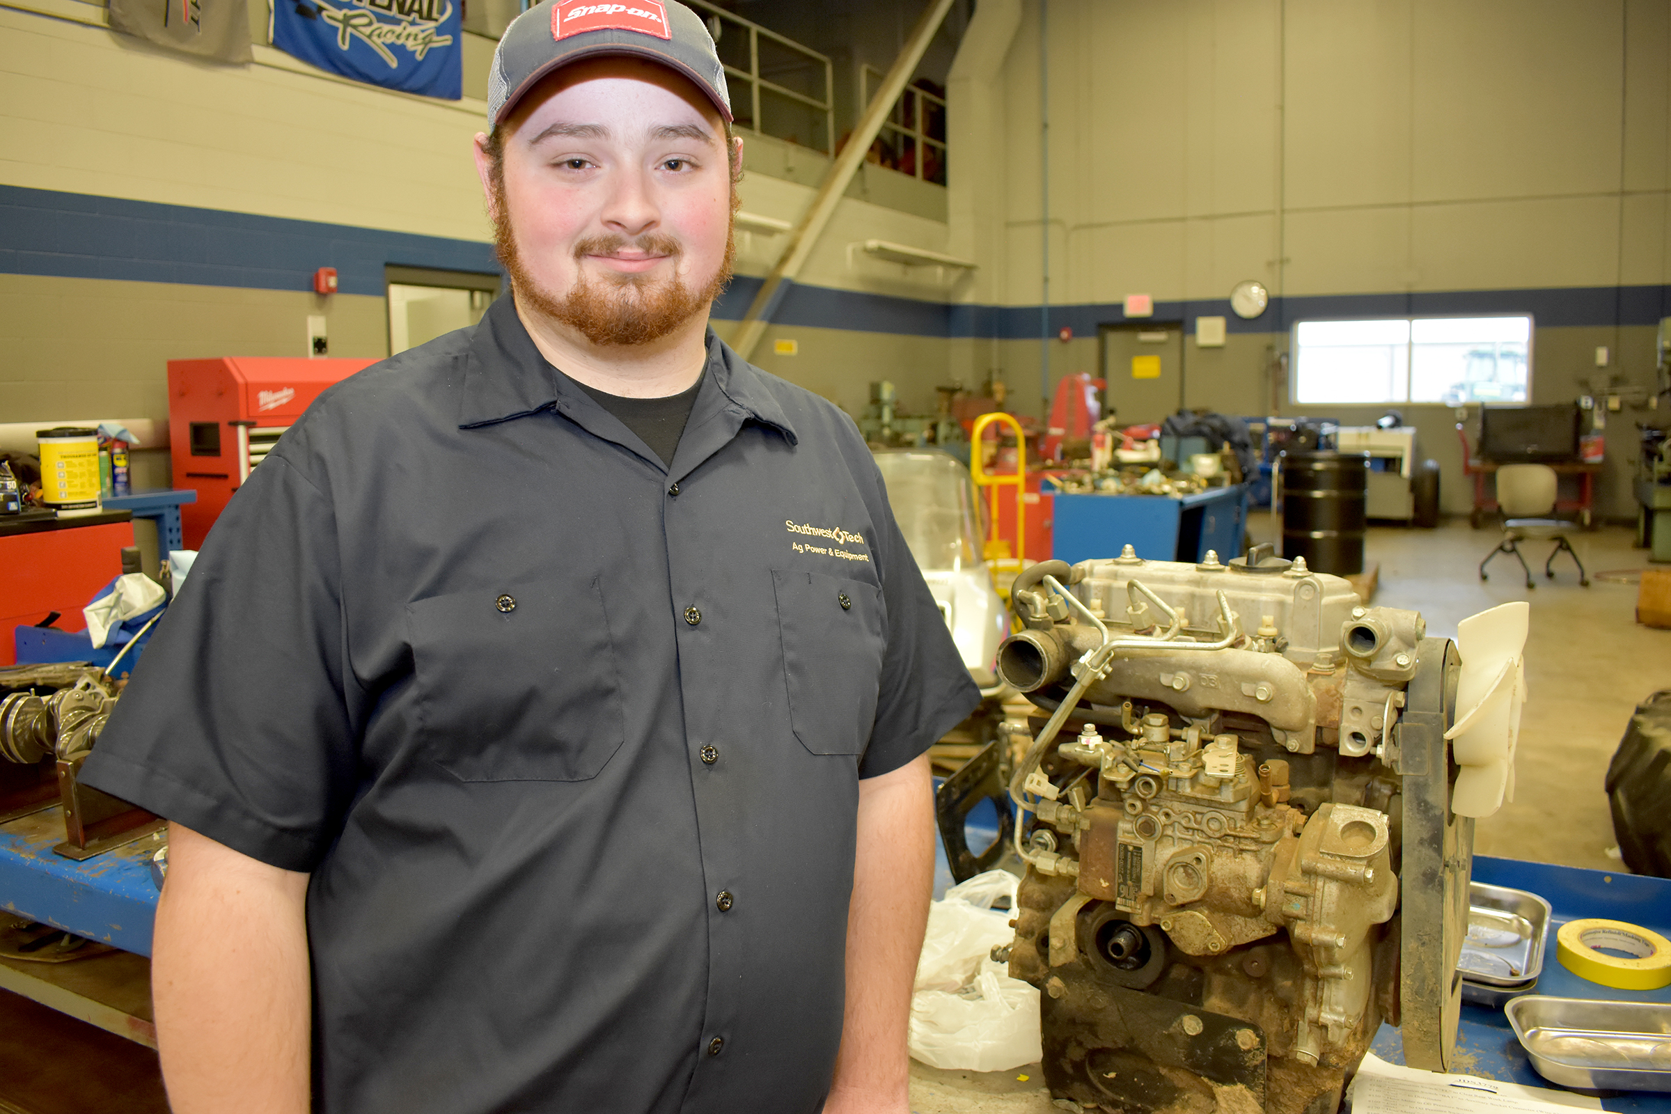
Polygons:
<instances>
[{"instance_id":1,"label":"tan left side wall with blue stripe, behind the man's head","mask_svg":"<svg viewBox=\"0 0 1671 1114\"><path fill-rule=\"evenodd\" d=\"M167 359L302 356L309 314L328 317L333 356L383 356L386 264L498 269L470 160L481 100L319 73L262 45L262 3L251 5L254 65L119 35L94 3L37 7L0 8L0 419L82 414L90 396L100 413L165 419ZM485 68L491 42L466 38L466 68ZM744 209L799 217L827 159L769 137L745 145ZM849 247L944 252L944 194L867 167L760 362L852 413L884 377L932 404L952 282ZM782 242L739 232L722 331ZM311 292L324 266L339 271L331 297ZM772 354L779 337L797 339L797 356Z\"/></svg>"}]
</instances>

